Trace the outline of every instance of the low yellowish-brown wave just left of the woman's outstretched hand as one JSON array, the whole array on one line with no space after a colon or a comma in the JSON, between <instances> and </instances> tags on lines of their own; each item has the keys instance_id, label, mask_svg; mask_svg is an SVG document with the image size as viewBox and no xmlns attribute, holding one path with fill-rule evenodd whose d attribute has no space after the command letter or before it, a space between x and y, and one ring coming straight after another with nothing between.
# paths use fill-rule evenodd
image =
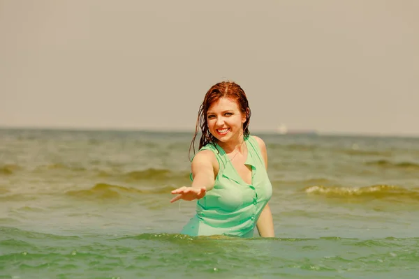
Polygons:
<instances>
[{"instance_id":1,"label":"low yellowish-brown wave just left of the woman's outstretched hand","mask_svg":"<svg viewBox=\"0 0 419 279\"><path fill-rule=\"evenodd\" d=\"M132 194L167 194L174 189L175 188L170 186L138 189L112 185L108 183L97 183L95 186L89 189L68 191L66 192L66 195L82 199L119 199L120 197L131 196Z\"/></svg>"}]
</instances>

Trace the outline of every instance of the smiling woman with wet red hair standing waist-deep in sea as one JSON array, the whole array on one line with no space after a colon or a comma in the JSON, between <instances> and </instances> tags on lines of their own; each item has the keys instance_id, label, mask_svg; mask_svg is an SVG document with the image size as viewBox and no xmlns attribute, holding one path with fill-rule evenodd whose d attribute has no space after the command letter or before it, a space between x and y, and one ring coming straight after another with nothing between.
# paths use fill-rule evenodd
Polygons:
<instances>
[{"instance_id":1,"label":"smiling woman with wet red hair standing waist-deep in sea","mask_svg":"<svg viewBox=\"0 0 419 279\"><path fill-rule=\"evenodd\" d=\"M260 236L274 237L267 151L263 140L249 135L250 116L246 94L235 82L220 82L207 91L191 142L194 146L199 125L192 184L173 190L176 197L170 200L197 199L196 215L182 234L252 237L256 226Z\"/></svg>"}]
</instances>

